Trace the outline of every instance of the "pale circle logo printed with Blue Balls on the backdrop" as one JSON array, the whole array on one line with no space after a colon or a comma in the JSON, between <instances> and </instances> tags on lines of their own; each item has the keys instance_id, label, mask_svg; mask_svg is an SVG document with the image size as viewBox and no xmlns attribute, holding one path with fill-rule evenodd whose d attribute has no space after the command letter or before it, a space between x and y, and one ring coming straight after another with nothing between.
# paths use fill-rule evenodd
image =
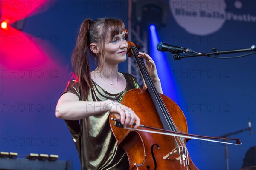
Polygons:
<instances>
[{"instance_id":1,"label":"pale circle logo printed with Blue Balls on the backdrop","mask_svg":"<svg viewBox=\"0 0 256 170\"><path fill-rule=\"evenodd\" d=\"M169 0L172 16L190 34L208 35L226 20L224 0Z\"/></svg>"}]
</instances>

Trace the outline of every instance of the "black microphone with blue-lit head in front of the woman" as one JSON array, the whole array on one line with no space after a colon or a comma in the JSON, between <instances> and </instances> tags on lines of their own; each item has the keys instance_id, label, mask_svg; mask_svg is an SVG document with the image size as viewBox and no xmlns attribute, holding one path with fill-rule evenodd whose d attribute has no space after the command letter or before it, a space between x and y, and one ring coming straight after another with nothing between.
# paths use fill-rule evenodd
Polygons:
<instances>
[{"instance_id":1,"label":"black microphone with blue-lit head in front of the woman","mask_svg":"<svg viewBox=\"0 0 256 170\"><path fill-rule=\"evenodd\" d=\"M169 51L171 53L196 53L196 54L201 54L201 53L198 53L198 52L195 52L189 48L183 48L183 47L177 47L177 46L174 46L174 45L169 45L169 44L166 44L164 42L160 42L157 44L157 50L158 51L162 51L162 52L165 52L165 51Z\"/></svg>"}]
</instances>

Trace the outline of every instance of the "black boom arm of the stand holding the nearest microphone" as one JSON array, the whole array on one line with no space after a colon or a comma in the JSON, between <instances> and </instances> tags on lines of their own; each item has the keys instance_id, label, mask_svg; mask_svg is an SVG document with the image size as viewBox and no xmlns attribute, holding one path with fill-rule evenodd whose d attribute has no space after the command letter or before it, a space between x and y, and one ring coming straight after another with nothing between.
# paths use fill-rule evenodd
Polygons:
<instances>
[{"instance_id":1,"label":"black boom arm of the stand holding the nearest microphone","mask_svg":"<svg viewBox=\"0 0 256 170\"><path fill-rule=\"evenodd\" d=\"M187 57L198 57L198 56L211 56L211 55L220 55L220 54L230 54L230 53L241 53L241 52L248 52L248 51L256 51L256 46L252 45L251 48L242 48L242 49L236 49L236 50L225 50L225 51L218 51L217 48L212 48L211 53L202 53L202 54L191 54L191 55L180 55L177 51L173 51L172 58L174 60L180 60L182 58Z\"/></svg>"}]
</instances>

